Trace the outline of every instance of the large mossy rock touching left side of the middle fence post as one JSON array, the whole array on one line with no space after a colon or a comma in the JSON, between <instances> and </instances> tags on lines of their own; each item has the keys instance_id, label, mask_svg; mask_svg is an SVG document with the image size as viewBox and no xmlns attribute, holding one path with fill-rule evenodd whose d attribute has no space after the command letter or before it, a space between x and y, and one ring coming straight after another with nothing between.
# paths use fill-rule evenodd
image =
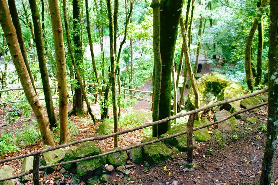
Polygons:
<instances>
[{"instance_id":1,"label":"large mossy rock touching left side of the middle fence post","mask_svg":"<svg viewBox=\"0 0 278 185\"><path fill-rule=\"evenodd\" d=\"M159 138L166 137L168 135L173 135L183 131L186 131L186 124L176 125L172 127L170 130L168 130L165 134L162 134ZM187 151L186 134L166 139L163 142L167 145L178 148L179 151ZM193 143L195 144L195 139L193 139ZM194 147L197 146L195 145Z\"/></svg>"}]
</instances>

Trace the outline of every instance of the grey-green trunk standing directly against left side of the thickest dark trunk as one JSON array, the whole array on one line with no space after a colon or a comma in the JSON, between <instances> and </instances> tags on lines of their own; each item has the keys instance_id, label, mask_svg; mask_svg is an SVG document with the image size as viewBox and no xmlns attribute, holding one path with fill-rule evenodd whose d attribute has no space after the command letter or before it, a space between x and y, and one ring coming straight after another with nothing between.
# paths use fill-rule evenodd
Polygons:
<instances>
[{"instance_id":1,"label":"grey-green trunk standing directly against left side of the thickest dark trunk","mask_svg":"<svg viewBox=\"0 0 278 185\"><path fill-rule=\"evenodd\" d=\"M159 101L161 88L161 68L162 60L160 55L160 7L159 0L152 0L153 8L153 121L159 120ZM131 42L132 46L132 42ZM132 48L132 47L131 47ZM132 61L132 60L131 60ZM153 137L158 137L158 125L153 125Z\"/></svg>"}]
</instances>

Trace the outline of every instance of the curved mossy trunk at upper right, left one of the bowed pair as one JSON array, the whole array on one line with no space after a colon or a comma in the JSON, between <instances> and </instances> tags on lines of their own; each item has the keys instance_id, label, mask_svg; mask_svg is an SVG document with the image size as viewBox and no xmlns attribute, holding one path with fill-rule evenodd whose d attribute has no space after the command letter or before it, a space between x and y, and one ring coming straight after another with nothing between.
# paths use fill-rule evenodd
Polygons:
<instances>
[{"instance_id":1,"label":"curved mossy trunk at upper right, left one of the bowed pair","mask_svg":"<svg viewBox=\"0 0 278 185\"><path fill-rule=\"evenodd\" d=\"M250 32L249 32L249 35L248 35L248 38L246 41L246 47L245 47L244 66L245 66L246 81L247 81L248 88L252 91L254 90L254 82L253 82L253 74L252 74L252 67L251 67L251 46L252 46L253 36L254 36L256 28L258 26L258 21L261 19L266 5L267 5L267 0L262 0L260 8L258 9L258 12L256 13L253 24L251 26L251 29L250 29Z\"/></svg>"}]
</instances>

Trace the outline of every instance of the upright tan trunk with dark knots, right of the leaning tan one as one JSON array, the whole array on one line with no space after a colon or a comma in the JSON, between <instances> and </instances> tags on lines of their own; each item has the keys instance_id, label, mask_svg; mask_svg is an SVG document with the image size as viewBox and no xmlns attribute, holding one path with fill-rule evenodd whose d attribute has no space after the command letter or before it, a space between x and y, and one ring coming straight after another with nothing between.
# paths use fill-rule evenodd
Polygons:
<instances>
[{"instance_id":1,"label":"upright tan trunk with dark knots, right of the leaning tan one","mask_svg":"<svg viewBox=\"0 0 278 185\"><path fill-rule=\"evenodd\" d=\"M57 81L59 87L60 144L70 141L67 117L68 97L63 27L57 0L48 0L55 46Z\"/></svg>"}]
</instances>

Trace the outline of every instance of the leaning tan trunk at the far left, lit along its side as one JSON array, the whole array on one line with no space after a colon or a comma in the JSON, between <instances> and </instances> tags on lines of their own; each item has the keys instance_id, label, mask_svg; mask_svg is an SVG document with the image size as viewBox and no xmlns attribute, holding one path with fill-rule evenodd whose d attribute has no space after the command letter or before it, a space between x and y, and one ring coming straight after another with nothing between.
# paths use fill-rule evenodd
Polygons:
<instances>
[{"instance_id":1,"label":"leaning tan trunk at the far left, lit along its side","mask_svg":"<svg viewBox=\"0 0 278 185\"><path fill-rule=\"evenodd\" d=\"M44 113L42 103L39 101L38 96L34 91L30 76L24 63L22 52L20 50L20 46L16 36L15 27L13 26L11 20L7 1L0 1L0 10L0 23L7 40L7 45L9 46L12 60L20 78L26 98L30 103L38 121L38 126L42 135L42 141L46 145L55 146L50 133L49 122Z\"/></svg>"}]
</instances>

